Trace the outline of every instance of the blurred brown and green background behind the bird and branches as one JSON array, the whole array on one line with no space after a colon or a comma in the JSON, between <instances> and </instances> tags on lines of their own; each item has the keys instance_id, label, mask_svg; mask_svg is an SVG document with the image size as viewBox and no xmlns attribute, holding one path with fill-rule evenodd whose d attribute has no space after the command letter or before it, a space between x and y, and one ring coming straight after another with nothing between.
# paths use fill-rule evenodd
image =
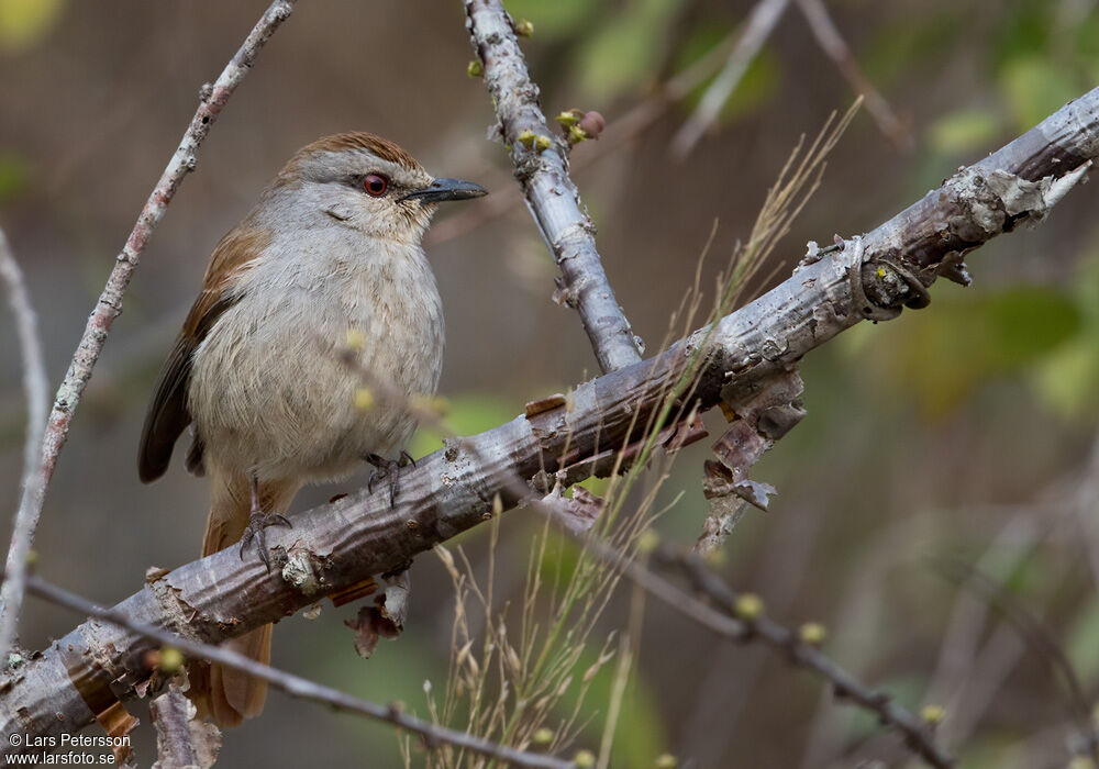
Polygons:
<instances>
[{"instance_id":1,"label":"blurred brown and green background behind the bird and branches","mask_svg":"<svg viewBox=\"0 0 1099 769\"><path fill-rule=\"evenodd\" d=\"M895 120L858 114L753 292L786 277L806 241L873 229L1099 79L1094 0L825 2ZM0 0L0 224L26 271L55 384L199 87L266 4ZM747 236L799 137L815 135L855 91L791 3L715 124L682 156L675 136L754 2L507 5L534 24L523 47L545 112L578 107L608 120L603 140L574 151L574 176L610 280L655 352L714 222L703 285ZM690 88L662 98L663 83L708 55ZM447 320L441 391L459 431L495 426L596 370L575 313L551 300L556 268L506 153L486 141L493 115L484 83L466 74L470 58L457 0L298 4L143 256L49 490L35 543L42 575L114 603L141 587L147 567L197 556L204 481L178 458L156 484L137 481L152 381L212 246L285 159L321 135L376 132L435 174L491 188L486 201L441 212L430 247ZM637 105L648 116L612 134ZM731 584L762 595L771 616L826 625L825 650L901 704L944 705L940 737L966 767L1065 766L1079 723L1050 671L1050 651L945 579L936 559L978 566L1002 584L1067 655L1086 698L1099 689L1097 194L1095 185L1083 187L1039 229L972 255L974 287L940 281L926 311L864 324L809 356L809 415L753 471L778 497L769 513L748 512L719 564ZM0 317L0 498L13 511L24 404L7 309ZM685 491L657 524L667 542L689 544L700 532L701 464L722 430L720 420L709 424L711 439L682 453L662 491L665 502ZM439 445L421 435L412 453ZM357 482L308 490L295 508ZM535 528L523 511L504 516L504 597L522 589ZM475 568L486 537L475 531L462 540ZM408 627L371 659L356 656L343 626L354 609L326 604L315 621L279 624L274 664L422 713L424 679L445 679L453 592L431 556L412 578ZM603 635L624 622L629 590L620 593ZM22 640L42 647L79 620L31 600ZM582 747L598 746L608 690L607 682L593 690L600 714ZM133 710L148 764L147 712L143 703ZM664 751L693 767L906 760L895 735L833 703L818 679L654 604L613 765L653 766ZM222 756L226 767L398 761L386 727L278 693L262 718L226 735Z\"/></svg>"}]
</instances>

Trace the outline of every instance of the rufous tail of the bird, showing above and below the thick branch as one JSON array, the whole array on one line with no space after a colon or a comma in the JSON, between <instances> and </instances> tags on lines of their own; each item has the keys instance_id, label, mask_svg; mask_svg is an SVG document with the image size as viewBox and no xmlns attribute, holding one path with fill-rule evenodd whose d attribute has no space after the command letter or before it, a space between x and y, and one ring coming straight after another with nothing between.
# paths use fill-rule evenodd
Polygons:
<instances>
[{"instance_id":1,"label":"rufous tail of the bird, showing above and below the thick branch","mask_svg":"<svg viewBox=\"0 0 1099 769\"><path fill-rule=\"evenodd\" d=\"M260 484L260 499L265 511L284 512L289 506L299 484ZM224 549L241 539L248 525L252 499L248 482L240 476L210 473L210 515L207 517L202 555ZM255 554L245 553L245 557ZM237 638L225 642L225 648L243 654L267 665L271 651L271 625L257 627ZM217 664L198 662L188 666L190 690L188 694L198 709L199 716L209 718L225 728L238 726L244 718L252 718L264 709L267 682Z\"/></svg>"}]
</instances>

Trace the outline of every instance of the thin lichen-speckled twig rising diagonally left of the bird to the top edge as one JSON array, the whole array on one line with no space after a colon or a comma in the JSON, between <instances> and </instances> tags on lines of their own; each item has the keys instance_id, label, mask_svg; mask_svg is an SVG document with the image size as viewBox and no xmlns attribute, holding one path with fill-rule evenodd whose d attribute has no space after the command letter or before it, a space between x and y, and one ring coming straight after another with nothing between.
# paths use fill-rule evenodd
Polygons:
<instances>
[{"instance_id":1,"label":"thin lichen-speckled twig rising diagonally left of the bird to the top edge","mask_svg":"<svg viewBox=\"0 0 1099 769\"><path fill-rule=\"evenodd\" d=\"M92 368L103 350L111 325L122 312L122 296L137 268L141 254L145 250L145 245L148 243L153 230L164 219L168 204L176 194L176 190L179 189L184 177L187 176L188 171L195 169L199 145L210 133L210 126L221 114L225 102L229 101L241 80L252 69L260 48L275 33L275 30L289 18L295 2L297 0L275 0L253 27L241 48L225 65L213 86L208 85L202 88L201 101L195 116L191 118L178 148L168 161L168 166L164 169L156 187L153 188L130 237L126 238L122 252L115 259L114 268L107 279L107 286L96 303L96 309L88 317L80 344L73 355L73 361L57 390L54 408L49 413L49 422L46 424L42 441L42 491L35 500L32 500L33 504L29 506L26 515L22 516L21 522L25 531L26 549L30 549L31 543L34 540L34 533L42 515L43 494L46 487L49 486L54 468L57 466L57 457L68 437L73 412L76 411L84 389L91 378ZM22 569L22 565L18 560L13 560L14 555L14 551L9 553L7 564L7 570L11 575L18 575ZM12 606L12 612L18 613L18 606Z\"/></svg>"}]
</instances>

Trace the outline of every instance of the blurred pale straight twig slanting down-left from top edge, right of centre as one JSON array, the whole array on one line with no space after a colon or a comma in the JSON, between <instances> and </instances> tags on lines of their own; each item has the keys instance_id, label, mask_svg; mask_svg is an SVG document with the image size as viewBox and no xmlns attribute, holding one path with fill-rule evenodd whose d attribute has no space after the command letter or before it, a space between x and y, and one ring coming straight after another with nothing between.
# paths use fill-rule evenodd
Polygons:
<instances>
[{"instance_id":1,"label":"blurred pale straight twig slanting down-left from top edge, right of centre","mask_svg":"<svg viewBox=\"0 0 1099 769\"><path fill-rule=\"evenodd\" d=\"M671 138L671 153L676 157L687 157L698 141L702 138L702 134L713 125L721 108L729 101L729 97L740 85L744 73L759 55L763 44L775 31L778 20L782 18L789 4L789 0L759 0L752 9L747 24L744 26L744 34L737 41L736 47L729 54L724 69L706 89L706 93L702 94L695 112Z\"/></svg>"}]
</instances>

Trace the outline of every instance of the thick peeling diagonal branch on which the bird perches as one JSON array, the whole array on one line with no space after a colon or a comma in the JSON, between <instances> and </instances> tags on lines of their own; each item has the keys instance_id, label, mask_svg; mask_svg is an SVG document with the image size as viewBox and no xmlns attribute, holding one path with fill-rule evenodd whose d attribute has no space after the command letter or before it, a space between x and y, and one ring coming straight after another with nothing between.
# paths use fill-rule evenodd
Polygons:
<instances>
[{"instance_id":1,"label":"thick peeling diagonal branch on which the bird perches","mask_svg":"<svg viewBox=\"0 0 1099 769\"><path fill-rule=\"evenodd\" d=\"M909 280L913 270L929 283L941 266L956 272L959 248L1041 219L1096 155L1099 89L958 172L862 241L807 259L792 277L712 328L653 359L580 384L570 399L548 404L553 408L532 408L530 415L487 433L447 442L406 472L395 506L385 491L359 491L297 516L292 531L271 531L268 542L278 566L271 573L258 560L242 562L230 548L151 578L115 610L135 622L217 643L402 567L418 553L489 520L496 495L504 509L522 501L517 475L535 479L536 490L544 492L547 473L551 481L556 475L567 484L604 468L609 455L642 438L703 344L693 399L699 409L722 398L735 408L768 376L864 316L921 303L922 283ZM1015 174L1043 181L1029 185ZM115 693L133 696L134 683L148 675L142 654L148 648L138 634L98 622L80 625L0 681L0 744L12 732L74 731L91 723Z\"/></svg>"}]
</instances>

